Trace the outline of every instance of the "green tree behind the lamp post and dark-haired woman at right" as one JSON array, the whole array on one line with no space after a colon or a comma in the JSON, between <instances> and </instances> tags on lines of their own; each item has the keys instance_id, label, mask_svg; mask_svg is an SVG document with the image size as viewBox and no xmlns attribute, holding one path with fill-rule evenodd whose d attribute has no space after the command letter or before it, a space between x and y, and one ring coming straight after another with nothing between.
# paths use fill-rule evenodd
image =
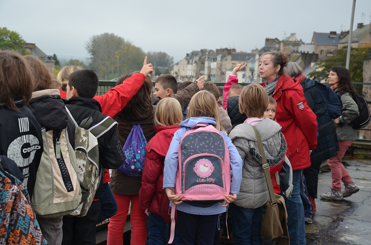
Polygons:
<instances>
[{"instance_id":1,"label":"green tree behind the lamp post and dark-haired woman at right","mask_svg":"<svg viewBox=\"0 0 371 245\"><path fill-rule=\"evenodd\" d=\"M319 81L328 81L328 72L333 66L345 67L347 61L347 50L348 47L344 46L335 51L333 57L329 57L325 60L317 62L318 68L309 73L310 78L316 76ZM363 82L363 61L365 60L369 52L369 47L351 48L349 72L353 82Z\"/></svg>"}]
</instances>

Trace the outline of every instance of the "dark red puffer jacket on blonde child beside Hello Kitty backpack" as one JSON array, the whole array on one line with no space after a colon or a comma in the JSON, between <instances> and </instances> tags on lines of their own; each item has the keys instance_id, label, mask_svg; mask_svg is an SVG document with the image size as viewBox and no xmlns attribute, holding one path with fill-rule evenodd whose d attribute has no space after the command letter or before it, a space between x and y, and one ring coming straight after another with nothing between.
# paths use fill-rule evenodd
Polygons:
<instances>
[{"instance_id":1,"label":"dark red puffer jacket on blonde child beside Hello Kitty backpack","mask_svg":"<svg viewBox=\"0 0 371 245\"><path fill-rule=\"evenodd\" d=\"M146 157L142 173L142 187L139 190L141 208L149 208L148 211L160 215L166 223L171 223L171 219L169 215L170 201L165 190L162 189L164 161L174 133L179 128L179 125L154 127L157 134L145 148Z\"/></svg>"}]
</instances>

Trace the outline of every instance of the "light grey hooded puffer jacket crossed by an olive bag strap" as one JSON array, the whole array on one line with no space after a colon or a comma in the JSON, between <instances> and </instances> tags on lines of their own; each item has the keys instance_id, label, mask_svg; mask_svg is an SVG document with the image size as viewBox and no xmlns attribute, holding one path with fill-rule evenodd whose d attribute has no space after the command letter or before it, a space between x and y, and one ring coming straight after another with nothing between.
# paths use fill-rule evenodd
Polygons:
<instances>
[{"instance_id":1,"label":"light grey hooded puffer jacket crossed by an olive bag strap","mask_svg":"<svg viewBox=\"0 0 371 245\"><path fill-rule=\"evenodd\" d=\"M262 139L269 166L277 165L285 158L287 145L281 126L269 118L254 125ZM236 204L242 208L259 208L269 201L268 187L262 167L262 156L250 124L239 124L229 134L242 160L242 182Z\"/></svg>"}]
</instances>

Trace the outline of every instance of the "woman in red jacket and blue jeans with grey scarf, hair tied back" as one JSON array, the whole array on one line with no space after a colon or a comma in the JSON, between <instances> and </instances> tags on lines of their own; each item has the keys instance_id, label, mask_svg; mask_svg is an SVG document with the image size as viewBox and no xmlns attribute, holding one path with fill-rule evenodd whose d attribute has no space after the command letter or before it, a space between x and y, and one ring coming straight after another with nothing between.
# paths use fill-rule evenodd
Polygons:
<instances>
[{"instance_id":1,"label":"woman in red jacket and blue jeans with grey scarf, hair tied back","mask_svg":"<svg viewBox=\"0 0 371 245\"><path fill-rule=\"evenodd\" d=\"M283 74L289 60L282 52L266 52L260 56L259 74L268 95L277 102L276 120L282 126L287 142L287 157L293 170L293 191L286 199L290 244L304 245L304 208L299 183L304 168L311 165L310 151L317 145L316 115L308 107L299 82Z\"/></svg>"}]
</instances>

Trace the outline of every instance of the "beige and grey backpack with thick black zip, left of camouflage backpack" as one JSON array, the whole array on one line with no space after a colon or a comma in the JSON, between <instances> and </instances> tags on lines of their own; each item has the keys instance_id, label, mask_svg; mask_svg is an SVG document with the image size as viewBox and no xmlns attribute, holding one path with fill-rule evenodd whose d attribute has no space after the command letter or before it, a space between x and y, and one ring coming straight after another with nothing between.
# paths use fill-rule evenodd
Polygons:
<instances>
[{"instance_id":1,"label":"beige and grey backpack with thick black zip, left of camouflage backpack","mask_svg":"<svg viewBox=\"0 0 371 245\"><path fill-rule=\"evenodd\" d=\"M31 207L35 214L55 218L69 214L81 201L76 155L66 129L41 129L44 151L37 169Z\"/></svg>"}]
</instances>

